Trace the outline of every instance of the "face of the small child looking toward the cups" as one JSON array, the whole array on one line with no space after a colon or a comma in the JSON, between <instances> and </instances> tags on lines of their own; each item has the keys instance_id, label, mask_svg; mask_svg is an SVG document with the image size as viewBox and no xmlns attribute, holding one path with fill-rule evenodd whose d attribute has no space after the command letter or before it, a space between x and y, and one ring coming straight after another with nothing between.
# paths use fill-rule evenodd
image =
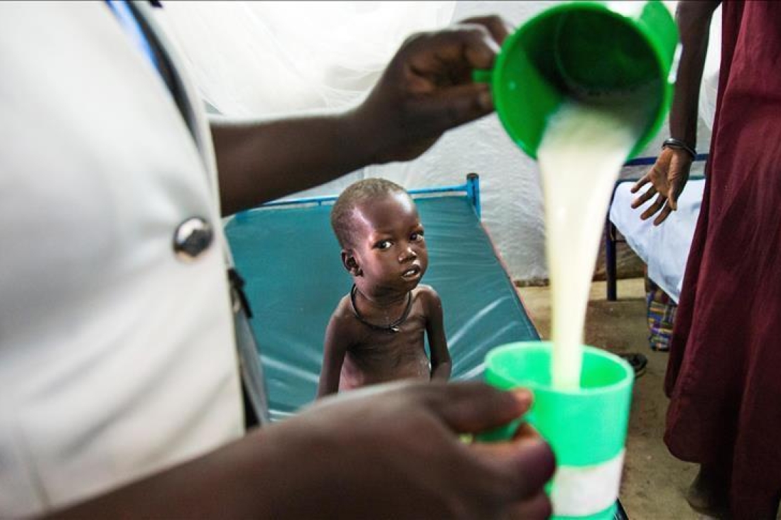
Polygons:
<instances>
[{"instance_id":1,"label":"face of the small child looking toward the cups","mask_svg":"<svg viewBox=\"0 0 781 520\"><path fill-rule=\"evenodd\" d=\"M355 209L358 232L353 256L356 283L373 291L407 292L426 272L429 255L415 203L405 193L391 193ZM361 278L362 277L362 278Z\"/></svg>"}]
</instances>

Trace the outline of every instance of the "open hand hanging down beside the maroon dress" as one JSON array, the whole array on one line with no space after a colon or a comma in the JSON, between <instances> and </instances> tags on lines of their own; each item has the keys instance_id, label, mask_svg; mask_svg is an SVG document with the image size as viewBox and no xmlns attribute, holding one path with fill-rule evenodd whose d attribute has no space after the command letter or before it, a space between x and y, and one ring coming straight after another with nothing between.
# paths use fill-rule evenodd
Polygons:
<instances>
[{"instance_id":1,"label":"open hand hanging down beside the maroon dress","mask_svg":"<svg viewBox=\"0 0 781 520\"><path fill-rule=\"evenodd\" d=\"M693 160L686 150L678 148L663 148L656 158L654 166L632 186L632 193L637 193L647 184L648 189L632 201L632 207L637 209L656 195L656 200L647 207L640 218L654 218L654 225L660 225L672 211L678 209L678 197L689 180L689 171Z\"/></svg>"}]
</instances>

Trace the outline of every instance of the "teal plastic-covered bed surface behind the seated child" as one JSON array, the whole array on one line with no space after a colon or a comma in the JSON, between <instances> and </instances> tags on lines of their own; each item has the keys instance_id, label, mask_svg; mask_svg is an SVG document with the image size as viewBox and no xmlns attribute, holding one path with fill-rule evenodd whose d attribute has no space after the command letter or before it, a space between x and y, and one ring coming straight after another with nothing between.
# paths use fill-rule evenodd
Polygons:
<instances>
[{"instance_id":1,"label":"teal plastic-covered bed surface behind the seated child","mask_svg":"<svg viewBox=\"0 0 781 520\"><path fill-rule=\"evenodd\" d=\"M469 196L433 193L415 201L429 249L422 283L442 299L453 378L481 377L490 348L539 335ZM351 287L330 209L330 203L266 207L226 225L246 282L273 419L315 397L326 324Z\"/></svg>"}]
</instances>

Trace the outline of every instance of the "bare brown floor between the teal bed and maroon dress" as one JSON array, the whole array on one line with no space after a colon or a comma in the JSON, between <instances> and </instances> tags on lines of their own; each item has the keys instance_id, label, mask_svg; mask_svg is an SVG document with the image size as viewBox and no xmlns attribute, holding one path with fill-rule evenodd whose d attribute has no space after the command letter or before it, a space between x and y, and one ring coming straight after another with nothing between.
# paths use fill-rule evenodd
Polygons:
<instances>
[{"instance_id":1,"label":"bare brown floor between the teal bed and maroon dress","mask_svg":"<svg viewBox=\"0 0 781 520\"><path fill-rule=\"evenodd\" d=\"M549 338L551 330L548 289L518 289L543 338ZM641 352L648 358L646 372L633 389L621 503L630 520L708 518L692 511L683 498L697 466L672 457L662 442L668 401L662 390L667 354L648 348L644 280L620 280L618 295L618 301L608 302L604 281L594 282L586 316L586 342L619 354Z\"/></svg>"}]
</instances>

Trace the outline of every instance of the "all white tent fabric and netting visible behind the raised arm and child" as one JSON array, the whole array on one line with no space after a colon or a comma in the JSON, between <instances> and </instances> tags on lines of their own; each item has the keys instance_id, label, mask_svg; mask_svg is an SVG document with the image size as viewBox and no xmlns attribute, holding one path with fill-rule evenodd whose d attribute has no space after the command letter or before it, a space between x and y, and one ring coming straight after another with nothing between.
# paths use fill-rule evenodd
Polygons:
<instances>
[{"instance_id":1,"label":"all white tent fabric and netting visible behind the raised arm and child","mask_svg":"<svg viewBox=\"0 0 781 520\"><path fill-rule=\"evenodd\" d=\"M358 102L416 31L486 13L519 25L556 3L164 2L163 23L205 101L226 115L267 117ZM657 154L665 130L644 155ZM701 148L709 138L701 131ZM369 176L407 188L444 186L462 183L467 172L480 174L483 223L512 278L547 278L537 164L496 115L451 130L415 161L364 168L296 196L339 193Z\"/></svg>"}]
</instances>

